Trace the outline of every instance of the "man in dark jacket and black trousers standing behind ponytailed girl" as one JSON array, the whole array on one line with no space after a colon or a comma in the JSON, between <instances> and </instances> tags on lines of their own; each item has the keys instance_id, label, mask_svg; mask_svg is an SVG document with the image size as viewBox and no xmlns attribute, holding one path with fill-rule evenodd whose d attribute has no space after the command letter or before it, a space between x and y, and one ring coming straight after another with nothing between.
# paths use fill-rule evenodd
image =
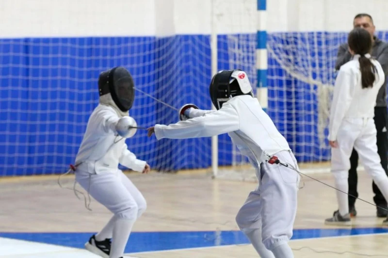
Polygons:
<instances>
[{"instance_id":1,"label":"man in dark jacket and black trousers standing behind ponytailed girl","mask_svg":"<svg viewBox=\"0 0 388 258\"><path fill-rule=\"evenodd\" d=\"M375 27L371 15L358 14L355 16L353 21L354 27L360 27L367 30L372 37L372 57L380 62L385 77L388 75L388 43L379 40L375 35ZM350 61L352 55L349 53L348 44L339 46L336 70L339 70L342 64ZM384 82L380 91L378 92L376 99L376 106L374 108L374 123L377 130L377 152L380 155L381 165L383 166L386 174L388 175L388 115L387 115L387 85ZM358 197L357 193L357 165L358 165L358 154L353 149L352 156L350 157L350 170L349 170L349 194ZM383 197L376 184L372 183L372 189L375 196L373 197L374 202L377 206L387 209L387 200ZM351 216L356 216L357 212L355 209L356 198L349 196L349 212ZM388 212L386 210L377 208L377 217L387 217ZM384 223L388 224L388 220Z\"/></svg>"}]
</instances>

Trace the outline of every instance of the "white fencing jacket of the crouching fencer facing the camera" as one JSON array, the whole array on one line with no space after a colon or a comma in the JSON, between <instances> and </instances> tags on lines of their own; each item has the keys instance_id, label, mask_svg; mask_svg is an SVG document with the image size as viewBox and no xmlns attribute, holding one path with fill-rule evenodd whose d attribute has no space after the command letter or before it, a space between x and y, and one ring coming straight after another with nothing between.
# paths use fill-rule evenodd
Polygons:
<instances>
[{"instance_id":1,"label":"white fencing jacket of the crouching fencer facing the camera","mask_svg":"<svg viewBox=\"0 0 388 258\"><path fill-rule=\"evenodd\" d=\"M121 164L142 172L146 161L128 150L123 137L117 136L115 125L120 119L112 106L99 104L90 115L86 132L76 157L77 169L89 173L116 172Z\"/></svg>"}]
</instances>

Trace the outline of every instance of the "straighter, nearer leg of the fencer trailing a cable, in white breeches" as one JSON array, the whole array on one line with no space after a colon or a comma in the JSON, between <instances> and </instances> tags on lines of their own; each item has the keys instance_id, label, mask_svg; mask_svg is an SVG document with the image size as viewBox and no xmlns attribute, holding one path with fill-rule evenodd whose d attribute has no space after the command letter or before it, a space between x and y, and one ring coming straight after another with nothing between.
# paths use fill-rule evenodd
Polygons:
<instances>
[{"instance_id":1,"label":"straighter, nearer leg of the fencer trailing a cable, in white breeches","mask_svg":"<svg viewBox=\"0 0 388 258\"><path fill-rule=\"evenodd\" d=\"M283 151L275 155L282 162L298 169L291 152ZM263 177L259 189L262 197L260 214L263 244L273 252L275 258L293 258L292 251L289 252L291 249L287 246L292 237L300 177L289 167L268 163L262 164L261 172ZM284 251L286 249L288 251Z\"/></svg>"}]
</instances>

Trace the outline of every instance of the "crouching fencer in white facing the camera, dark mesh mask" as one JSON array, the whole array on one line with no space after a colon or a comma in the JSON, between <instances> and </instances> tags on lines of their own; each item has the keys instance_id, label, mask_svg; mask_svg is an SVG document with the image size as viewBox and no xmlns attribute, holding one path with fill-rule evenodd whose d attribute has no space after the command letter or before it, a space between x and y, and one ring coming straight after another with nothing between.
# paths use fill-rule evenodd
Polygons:
<instances>
[{"instance_id":1,"label":"crouching fencer in white facing the camera, dark mesh mask","mask_svg":"<svg viewBox=\"0 0 388 258\"><path fill-rule=\"evenodd\" d=\"M125 138L135 133L129 126L136 126L129 117L135 96L132 76L124 67L115 67L100 74L98 89L99 105L89 118L76 158L75 176L113 213L85 248L104 258L121 258L133 224L146 210L146 200L118 165L143 173L148 173L150 167L137 159L125 143Z\"/></svg>"}]
</instances>

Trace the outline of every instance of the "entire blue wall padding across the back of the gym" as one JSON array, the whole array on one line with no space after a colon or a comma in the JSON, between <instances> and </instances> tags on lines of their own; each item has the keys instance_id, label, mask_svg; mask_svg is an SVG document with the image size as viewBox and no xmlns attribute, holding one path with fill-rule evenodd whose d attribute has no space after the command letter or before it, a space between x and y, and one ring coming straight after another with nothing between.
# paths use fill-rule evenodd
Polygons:
<instances>
[{"instance_id":1,"label":"entire blue wall padding across the back of the gym","mask_svg":"<svg viewBox=\"0 0 388 258\"><path fill-rule=\"evenodd\" d=\"M297 39L302 41L301 44L314 44L308 42L309 36L304 38L290 32L284 46L288 41L295 44ZM219 36L219 42L225 42L225 38ZM310 55L325 56L325 60L333 61L337 48L327 51L327 47L323 46L338 46L346 38L346 33L326 33L326 37L316 38L331 40L318 41L317 46L311 48ZM222 60L228 60L226 47L226 44L219 44ZM177 51L151 51L155 48ZM309 58L304 49L301 47L288 53L301 63L295 61L295 65L303 65L301 56ZM122 56L130 58L123 59ZM210 99L204 100L203 95L195 94L195 91L187 97L177 97L182 92L192 91L193 82L208 91L211 72L210 36L207 35L2 39L0 57L0 164L3 166L0 176L61 173L74 162L87 119L97 106L100 67L129 67L136 85L147 85L142 88L143 91L172 106L200 103L201 108L210 108ZM317 121L317 96L311 94L306 83L282 70L273 57L269 56L268 62L268 110L279 131L287 138L299 161L317 161L319 157L329 159L329 149L319 147L318 128L312 123ZM226 63L218 65L220 69L227 68ZM312 65L316 68L314 78L330 81L333 74L324 74L327 69L322 67L333 64ZM175 76L178 80L162 76L171 71L181 75ZM164 79L158 80L161 77ZM155 89L162 86L165 91L154 94ZM53 99L58 101L50 101ZM177 99L181 102L174 102ZM151 98L137 97L131 115L141 126L175 122L176 111L161 105ZM167 113L158 112L162 109ZM144 116L145 112L147 116ZM45 122L40 122L42 120ZM230 165L231 144L224 143L228 141L226 135L220 138L219 149L223 156L219 165ZM203 168L211 164L210 138L156 141L148 139L146 132L139 130L136 137L127 143L132 152L144 153L139 158L152 160L150 165L159 170ZM180 152L185 153L178 154L179 158L176 158L177 146ZM195 150L195 146L201 146L201 149Z\"/></svg>"}]
</instances>

